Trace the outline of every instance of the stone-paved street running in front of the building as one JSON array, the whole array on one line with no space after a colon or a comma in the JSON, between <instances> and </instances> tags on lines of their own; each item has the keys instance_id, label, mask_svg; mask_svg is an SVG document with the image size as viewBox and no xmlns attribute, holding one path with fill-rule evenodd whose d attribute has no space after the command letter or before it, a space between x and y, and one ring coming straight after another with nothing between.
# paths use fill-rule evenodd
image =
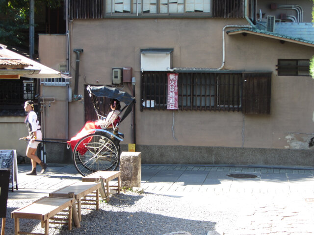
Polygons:
<instances>
[{"instance_id":1,"label":"stone-paved street running in front of the building","mask_svg":"<svg viewBox=\"0 0 314 235\"><path fill-rule=\"evenodd\" d=\"M9 192L9 199L39 198L81 180L73 165L52 165L37 176L26 176L29 169L19 165L19 190ZM216 222L215 231L208 235L314 234L312 169L142 165L141 170L146 193L180 197L193 209L215 211L208 218ZM250 175L256 177L243 178Z\"/></svg>"}]
</instances>

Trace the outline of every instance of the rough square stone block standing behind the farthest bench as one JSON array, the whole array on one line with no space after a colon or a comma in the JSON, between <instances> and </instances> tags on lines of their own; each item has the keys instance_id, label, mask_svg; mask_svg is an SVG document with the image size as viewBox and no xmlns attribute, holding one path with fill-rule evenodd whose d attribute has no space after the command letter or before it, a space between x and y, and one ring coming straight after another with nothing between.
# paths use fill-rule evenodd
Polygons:
<instances>
[{"instance_id":1,"label":"rough square stone block standing behind the farthest bench","mask_svg":"<svg viewBox=\"0 0 314 235\"><path fill-rule=\"evenodd\" d=\"M122 152L120 156L121 187L141 187L141 153Z\"/></svg>"}]
</instances>

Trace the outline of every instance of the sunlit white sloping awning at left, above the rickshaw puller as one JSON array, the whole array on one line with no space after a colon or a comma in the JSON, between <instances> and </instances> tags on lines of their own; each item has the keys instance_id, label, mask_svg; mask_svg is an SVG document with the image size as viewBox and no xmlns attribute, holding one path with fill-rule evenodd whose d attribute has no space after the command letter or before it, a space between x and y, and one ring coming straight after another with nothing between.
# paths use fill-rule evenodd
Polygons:
<instances>
[{"instance_id":1,"label":"sunlit white sloping awning at left, above the rickshaw puller","mask_svg":"<svg viewBox=\"0 0 314 235\"><path fill-rule=\"evenodd\" d=\"M1 61L3 62L2 64L6 65L3 65L6 68L0 68L0 75L18 74L22 77L29 78L71 78L60 71L53 70L12 50L6 49L6 46L0 44L0 62ZM15 69L16 66L19 65L23 68ZM10 69L12 67L15 68Z\"/></svg>"}]
</instances>

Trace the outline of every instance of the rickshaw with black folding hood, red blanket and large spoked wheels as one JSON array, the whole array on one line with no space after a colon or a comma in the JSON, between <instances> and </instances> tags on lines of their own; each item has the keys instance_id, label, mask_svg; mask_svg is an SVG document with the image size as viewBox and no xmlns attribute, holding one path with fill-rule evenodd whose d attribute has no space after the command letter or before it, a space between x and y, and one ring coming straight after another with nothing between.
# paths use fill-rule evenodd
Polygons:
<instances>
[{"instance_id":1,"label":"rickshaw with black folding hood, red blanket and large spoked wheels","mask_svg":"<svg viewBox=\"0 0 314 235\"><path fill-rule=\"evenodd\" d=\"M135 98L127 92L109 86L87 86L87 91L98 120L88 121L78 134L67 141L68 148L73 150L73 162L78 172L89 175L99 170L115 170L119 165L120 141L123 141L124 134L118 131L118 125L131 112ZM117 99L121 105L119 116L108 121L105 115L100 112L100 105L97 97Z\"/></svg>"}]
</instances>

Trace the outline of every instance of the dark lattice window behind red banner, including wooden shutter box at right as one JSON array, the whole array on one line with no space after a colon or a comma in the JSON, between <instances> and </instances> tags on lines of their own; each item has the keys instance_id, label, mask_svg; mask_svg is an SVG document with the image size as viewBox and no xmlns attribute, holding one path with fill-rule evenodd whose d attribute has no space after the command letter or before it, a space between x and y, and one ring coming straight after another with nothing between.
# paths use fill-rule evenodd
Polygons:
<instances>
[{"instance_id":1,"label":"dark lattice window behind red banner, including wooden shutter box at right","mask_svg":"<svg viewBox=\"0 0 314 235\"><path fill-rule=\"evenodd\" d=\"M167 73L143 71L141 111L167 109ZM270 113L271 73L182 72L179 110Z\"/></svg>"}]
</instances>

